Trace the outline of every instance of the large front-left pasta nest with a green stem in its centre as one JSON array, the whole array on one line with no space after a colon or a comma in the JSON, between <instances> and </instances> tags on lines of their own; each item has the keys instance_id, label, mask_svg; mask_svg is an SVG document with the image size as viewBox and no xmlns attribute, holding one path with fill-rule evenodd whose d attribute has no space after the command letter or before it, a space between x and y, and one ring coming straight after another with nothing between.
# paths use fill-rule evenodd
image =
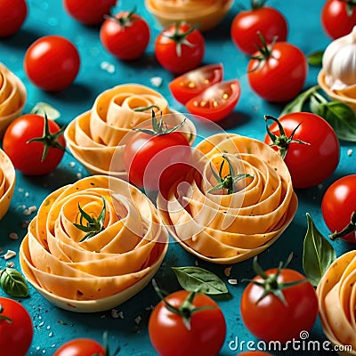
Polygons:
<instances>
[{"instance_id":1,"label":"large front-left pasta nest with a green stem in its centre","mask_svg":"<svg viewBox=\"0 0 356 356\"><path fill-rule=\"evenodd\" d=\"M85 232L73 224L79 223L78 204L98 216L102 198L103 229L83 239ZM20 264L39 290L100 303L157 269L166 254L167 238L155 206L140 190L117 178L94 175L44 199L21 243Z\"/></svg>"}]
</instances>

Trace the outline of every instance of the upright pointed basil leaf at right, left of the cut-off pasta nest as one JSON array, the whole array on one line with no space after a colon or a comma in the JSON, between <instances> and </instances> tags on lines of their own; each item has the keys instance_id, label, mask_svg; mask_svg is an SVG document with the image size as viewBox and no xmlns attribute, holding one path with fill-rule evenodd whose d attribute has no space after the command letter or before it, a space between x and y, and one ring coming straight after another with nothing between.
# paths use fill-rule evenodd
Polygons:
<instances>
[{"instance_id":1,"label":"upright pointed basil leaf at right, left of the cut-off pasta nest","mask_svg":"<svg viewBox=\"0 0 356 356\"><path fill-rule=\"evenodd\" d=\"M303 271L314 287L317 287L321 277L336 259L332 245L315 227L310 214L306 214L308 229L303 243Z\"/></svg>"}]
</instances>

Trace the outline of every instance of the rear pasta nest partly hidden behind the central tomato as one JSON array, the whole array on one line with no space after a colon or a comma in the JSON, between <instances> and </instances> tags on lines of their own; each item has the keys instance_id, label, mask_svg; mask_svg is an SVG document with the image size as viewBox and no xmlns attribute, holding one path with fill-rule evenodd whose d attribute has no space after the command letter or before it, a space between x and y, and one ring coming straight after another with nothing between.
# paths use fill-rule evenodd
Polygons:
<instances>
[{"instance_id":1,"label":"rear pasta nest partly hidden behind the central tomato","mask_svg":"<svg viewBox=\"0 0 356 356\"><path fill-rule=\"evenodd\" d=\"M150 120L152 109L157 117L161 112L162 115L173 115L166 99L149 87L117 85L101 93L91 110L69 123L64 133L69 150L90 173L127 179L122 159L125 136L134 127ZM182 117L177 115L175 120L181 122ZM185 133L192 142L195 126L188 119L184 124ZM115 165L112 165L114 155Z\"/></svg>"}]
</instances>

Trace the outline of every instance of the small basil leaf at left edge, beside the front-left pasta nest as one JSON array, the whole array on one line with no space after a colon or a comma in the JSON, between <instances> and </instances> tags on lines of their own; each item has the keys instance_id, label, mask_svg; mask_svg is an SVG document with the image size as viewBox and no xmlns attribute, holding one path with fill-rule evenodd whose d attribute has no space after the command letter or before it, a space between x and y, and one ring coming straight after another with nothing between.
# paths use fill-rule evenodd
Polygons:
<instances>
[{"instance_id":1,"label":"small basil leaf at left edge, beside the front-left pasta nest","mask_svg":"<svg viewBox=\"0 0 356 356\"><path fill-rule=\"evenodd\" d=\"M15 297L28 296L28 284L22 274L14 268L1 271L0 286L8 295Z\"/></svg>"}]
</instances>

